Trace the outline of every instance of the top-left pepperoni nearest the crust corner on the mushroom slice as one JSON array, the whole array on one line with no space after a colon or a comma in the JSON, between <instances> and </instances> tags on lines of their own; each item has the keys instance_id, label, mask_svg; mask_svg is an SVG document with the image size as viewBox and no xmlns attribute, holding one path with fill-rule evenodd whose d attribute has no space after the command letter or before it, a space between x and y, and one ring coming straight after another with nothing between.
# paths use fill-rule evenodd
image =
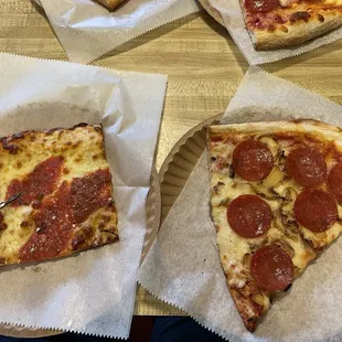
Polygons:
<instances>
[{"instance_id":1,"label":"top-left pepperoni nearest the crust corner on the mushroom slice","mask_svg":"<svg viewBox=\"0 0 342 342\"><path fill-rule=\"evenodd\" d=\"M233 167L246 181L259 181L274 168L274 157L269 148L257 140L245 140L233 152Z\"/></svg>"}]
</instances>

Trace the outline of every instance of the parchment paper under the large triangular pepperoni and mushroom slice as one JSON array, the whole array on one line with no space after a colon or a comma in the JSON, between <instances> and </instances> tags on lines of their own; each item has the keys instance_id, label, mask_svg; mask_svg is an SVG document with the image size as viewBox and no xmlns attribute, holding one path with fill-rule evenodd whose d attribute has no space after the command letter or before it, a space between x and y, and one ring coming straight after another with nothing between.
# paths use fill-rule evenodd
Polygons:
<instances>
[{"instance_id":1,"label":"parchment paper under the large triangular pepperoni and mushroom slice","mask_svg":"<svg viewBox=\"0 0 342 342\"><path fill-rule=\"evenodd\" d=\"M224 121L293 118L314 118L342 126L342 107L252 67L232 99ZM308 267L250 334L225 284L209 203L205 152L139 270L141 285L229 341L341 341L342 241Z\"/></svg>"}]
</instances>

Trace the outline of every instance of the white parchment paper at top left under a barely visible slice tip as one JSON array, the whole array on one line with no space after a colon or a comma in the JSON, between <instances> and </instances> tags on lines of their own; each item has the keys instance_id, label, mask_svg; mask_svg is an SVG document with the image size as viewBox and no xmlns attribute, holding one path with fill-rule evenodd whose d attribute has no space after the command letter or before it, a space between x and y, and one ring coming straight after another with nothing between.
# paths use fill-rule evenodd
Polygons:
<instances>
[{"instance_id":1,"label":"white parchment paper at top left under a barely visible slice tip","mask_svg":"<svg viewBox=\"0 0 342 342\"><path fill-rule=\"evenodd\" d=\"M114 12L94 0L40 2L70 60L79 63L200 10L195 0L130 0Z\"/></svg>"}]
</instances>

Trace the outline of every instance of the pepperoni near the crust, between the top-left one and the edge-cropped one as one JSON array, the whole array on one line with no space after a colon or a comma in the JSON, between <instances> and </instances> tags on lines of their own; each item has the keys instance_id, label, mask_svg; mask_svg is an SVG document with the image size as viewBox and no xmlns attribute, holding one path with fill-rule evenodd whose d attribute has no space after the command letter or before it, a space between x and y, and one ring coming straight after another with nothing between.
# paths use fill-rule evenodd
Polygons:
<instances>
[{"instance_id":1,"label":"pepperoni near the crust, between the top-left one and the edge-cropped one","mask_svg":"<svg viewBox=\"0 0 342 342\"><path fill-rule=\"evenodd\" d=\"M324 157L309 147L291 151L286 160L286 172L301 185L313 188L327 178Z\"/></svg>"}]
</instances>

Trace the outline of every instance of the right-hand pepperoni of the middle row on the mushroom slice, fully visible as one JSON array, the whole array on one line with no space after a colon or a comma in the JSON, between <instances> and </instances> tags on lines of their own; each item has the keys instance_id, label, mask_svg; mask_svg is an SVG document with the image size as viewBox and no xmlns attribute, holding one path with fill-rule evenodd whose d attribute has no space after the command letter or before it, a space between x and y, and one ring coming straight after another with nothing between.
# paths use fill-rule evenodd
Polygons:
<instances>
[{"instance_id":1,"label":"right-hand pepperoni of the middle row on the mushroom slice, fully visible","mask_svg":"<svg viewBox=\"0 0 342 342\"><path fill-rule=\"evenodd\" d=\"M334 197L322 190L308 189L295 202L296 220L311 232L327 231L338 220L338 205Z\"/></svg>"}]
</instances>

